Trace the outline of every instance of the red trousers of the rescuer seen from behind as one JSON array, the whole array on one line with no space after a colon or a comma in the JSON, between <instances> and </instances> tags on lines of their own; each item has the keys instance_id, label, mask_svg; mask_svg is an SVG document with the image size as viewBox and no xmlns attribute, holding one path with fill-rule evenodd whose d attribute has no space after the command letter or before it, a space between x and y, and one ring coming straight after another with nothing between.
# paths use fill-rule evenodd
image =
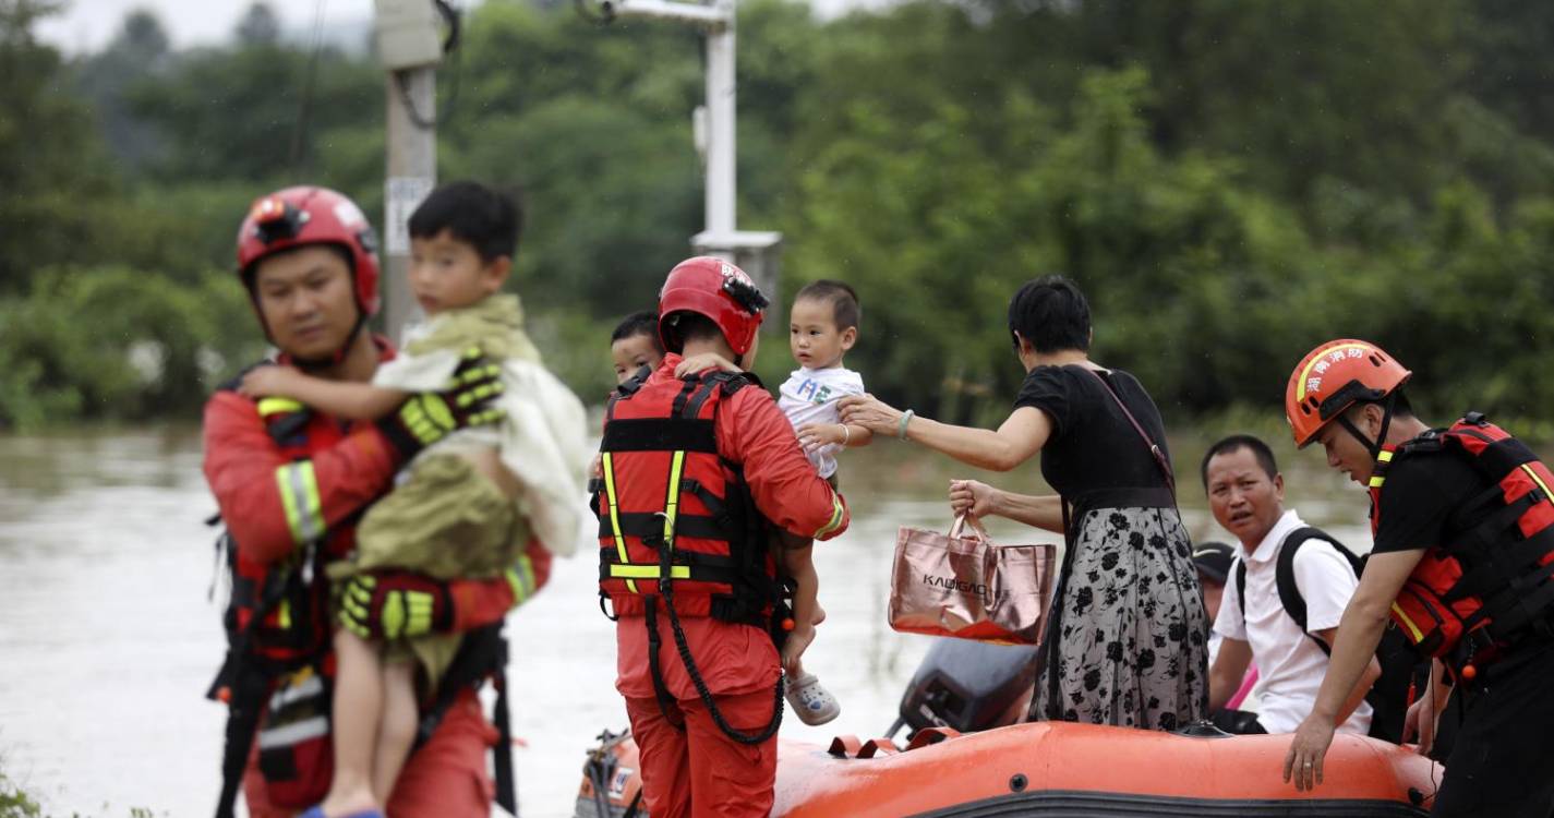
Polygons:
<instances>
[{"instance_id":1,"label":"red trousers of the rescuer seen from behind","mask_svg":"<svg viewBox=\"0 0 1554 818\"><path fill-rule=\"evenodd\" d=\"M771 687L718 695L713 701L740 732L757 732L772 717ZM664 718L656 698L626 698L631 736L642 753L642 806L648 815L769 815L777 779L777 737L758 745L738 743L718 729L699 698L676 701L670 714L684 718L684 732Z\"/></svg>"}]
</instances>

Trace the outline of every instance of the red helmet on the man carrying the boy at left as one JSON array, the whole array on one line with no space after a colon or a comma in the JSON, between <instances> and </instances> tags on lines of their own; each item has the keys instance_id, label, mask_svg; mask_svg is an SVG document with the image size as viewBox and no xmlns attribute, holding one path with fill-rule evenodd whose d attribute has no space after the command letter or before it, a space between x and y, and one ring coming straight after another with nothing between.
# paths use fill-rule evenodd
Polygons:
<instances>
[{"instance_id":1,"label":"red helmet on the man carrying the boy at left","mask_svg":"<svg viewBox=\"0 0 1554 818\"><path fill-rule=\"evenodd\" d=\"M362 320L378 314L378 238L362 208L329 188L295 187L260 196L238 229L238 274L253 289L253 264L305 244L336 244L351 257Z\"/></svg>"}]
</instances>

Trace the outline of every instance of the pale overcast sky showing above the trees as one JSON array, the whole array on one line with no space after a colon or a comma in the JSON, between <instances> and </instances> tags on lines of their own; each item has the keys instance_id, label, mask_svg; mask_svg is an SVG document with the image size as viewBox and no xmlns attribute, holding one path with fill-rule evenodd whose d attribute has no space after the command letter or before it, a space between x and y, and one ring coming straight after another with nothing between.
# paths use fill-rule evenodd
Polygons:
<instances>
[{"instance_id":1,"label":"pale overcast sky showing above the trees","mask_svg":"<svg viewBox=\"0 0 1554 818\"><path fill-rule=\"evenodd\" d=\"M838 14L853 6L878 6L883 0L810 0L821 14ZM232 34L249 0L64 0L65 11L39 23L39 34L79 54L103 47L118 31L124 14L148 8L162 19L176 47L210 45ZM286 31L308 31L317 8L325 25L361 23L371 19L373 0L269 0ZM474 0L455 5L471 8Z\"/></svg>"}]
</instances>

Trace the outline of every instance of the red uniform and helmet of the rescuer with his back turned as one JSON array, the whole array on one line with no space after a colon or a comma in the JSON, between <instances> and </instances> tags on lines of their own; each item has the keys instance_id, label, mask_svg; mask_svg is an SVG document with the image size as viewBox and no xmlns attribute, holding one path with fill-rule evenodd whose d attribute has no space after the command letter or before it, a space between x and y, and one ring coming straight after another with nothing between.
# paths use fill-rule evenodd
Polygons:
<instances>
[{"instance_id":1,"label":"red uniform and helmet of the rescuer with his back turned","mask_svg":"<svg viewBox=\"0 0 1554 818\"><path fill-rule=\"evenodd\" d=\"M688 285L688 289L676 289L676 283ZM730 297L730 292L737 292ZM765 299L743 271L715 258L695 258L679 264L665 283L660 299L660 320L673 322L676 309L699 313L720 325L724 337L737 356L743 356L754 344L754 333L761 319ZM660 325L660 331L662 331ZM670 350L678 350L679 344L667 339ZM687 417L704 417L702 423L712 423L716 445L715 459L724 463L724 471L737 479L723 484L723 502L730 507L746 502L754 505L754 512L771 526L786 530L800 538L828 540L847 529L847 505L841 496L814 471L803 456L793 425L788 423L775 400L765 389L754 386L733 387L718 395L709 395L702 387L716 383L712 378L690 378L702 381L687 384L687 379L674 376L674 369L682 361L676 351L665 355L659 369L645 381L628 387L629 395L622 400L637 406L668 407L678 395L674 406L690 406ZM707 375L707 373L702 373ZM699 411L701 401L710 400L715 409ZM617 412L612 404L611 415L631 414ZM642 411L636 411L640 417ZM650 411L648 414L653 414ZM674 414L674 412L665 412ZM782 667L772 636L760 627L758 614L769 617L771 605L752 591L746 589L743 599L740 591L729 594L727 568L730 554L746 555L747 568L755 566L757 572L766 572L771 582L775 577L774 561L768 554L766 540L755 540L754 535L740 530L740 526L724 526L709 530L710 521L718 518L723 502L718 490L709 488L709 460L712 453L706 443L681 440L678 443L654 445L659 432L646 434L646 440L637 442L637 449L690 449L678 451L673 467L668 451L648 454L662 456L665 463L662 474L648 474L640 467L642 460L631 465L617 467L618 474L611 473L611 439L612 423L643 423L606 421L605 442L605 473L606 488L600 493L600 533L601 533L601 591L615 602L617 620L617 681L615 687L626 698L626 712L631 717L632 737L640 748L643 807L654 818L682 818L690 815L732 815L761 816L772 807L772 785L777 774L777 739L774 708L780 708L777 692ZM646 423L654 423L648 420ZM695 423L695 421L692 421ZM639 426L640 428L640 426ZM678 432L668 426L654 426L662 431L662 440L673 439ZM676 428L676 429L682 429ZM623 435L625 437L625 435ZM625 446L631 449L632 446ZM696 454L696 453L702 454ZM625 463L631 451L615 451L617 462ZM698 459L699 457L699 459ZM684 459L685 471L681 471ZM699 477L698 477L699 474ZM685 479L690 477L690 479ZM622 481L617 485L615 481ZM681 482L684 479L684 482ZM723 482L716 479L716 482ZM665 509L665 487L678 487L670 491ZM747 495L744 495L747 491ZM737 496L738 493L738 496ZM631 496L639 501L656 498L657 509L664 515L645 515L631 505ZM678 501L674 498L679 498ZM617 505L617 501L620 505ZM676 509L678 505L678 509ZM712 512L712 516L709 515ZM617 513L618 512L618 513ZM699 533L693 527L696 515L699 518ZM614 516L614 519L612 519ZM676 529L668 537L668 543L657 541L657 547L665 551L664 563L654 565L651 532L654 524L645 529L634 529L628 523L639 523L643 518L664 518ZM623 523L625 521L625 523ZM674 526L678 523L678 526ZM727 523L727 518L723 518ZM623 532L623 529L626 529ZM648 532L643 537L643 530ZM625 535L623 535L625 533ZM676 543L676 538L679 541ZM628 547L629 543L629 547ZM643 551L648 546L650 551ZM695 549L701 549L696 554ZM710 549L710 551L709 551ZM646 563L643 563L646 558ZM681 648L676 645L674 624L671 622L670 605L662 597L662 585L656 585L662 565L676 563L676 586L684 593L673 600L673 610L679 611L678 622L685 647L692 656L695 670L687 669ZM732 563L741 563L744 557L735 557ZM707 571L707 574L699 574ZM720 572L721 571L721 572ZM623 577L637 577L622 582ZM702 579L709 577L709 579ZM755 579L752 586L775 589L775 585ZM738 583L733 585L735 588ZM720 588L723 589L720 596ZM709 611L709 596L712 610ZM727 616L733 607L743 613ZM741 607L743 605L743 607ZM757 610L760 608L760 610ZM656 614L654 614L656 611ZM650 636L648 622L656 624L656 634ZM656 644L654 644L656 642ZM657 656L653 650L657 648ZM654 661L656 659L656 661ZM654 684L657 672L662 687ZM699 675L706 698L696 689ZM707 706L712 700L712 708ZM746 736L746 740L735 740L716 723L718 715L729 728ZM768 736L768 732L771 732ZM765 739L760 739L766 736ZM755 740L758 739L758 740Z\"/></svg>"}]
</instances>

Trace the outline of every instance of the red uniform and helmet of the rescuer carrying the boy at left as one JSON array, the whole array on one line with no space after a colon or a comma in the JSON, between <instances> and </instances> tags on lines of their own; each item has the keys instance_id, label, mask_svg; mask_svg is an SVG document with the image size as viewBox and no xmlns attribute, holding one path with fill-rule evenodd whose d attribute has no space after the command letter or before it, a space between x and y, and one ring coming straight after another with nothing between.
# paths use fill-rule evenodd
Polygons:
<instances>
[{"instance_id":1,"label":"red uniform and helmet of the rescuer carrying the boy at left","mask_svg":"<svg viewBox=\"0 0 1554 818\"><path fill-rule=\"evenodd\" d=\"M287 188L261 198L244 221L238 236L238 266L244 285L253 294L253 267L267 255L308 244L328 244L345 250L354 277L357 323L351 331L365 331L367 317L378 311L378 258L371 227L359 208L345 196L325 188ZM256 297L255 297L256 300ZM256 305L258 309L258 305ZM260 313L264 325L263 313ZM264 325L272 336L270 327ZM274 337L274 336L272 336ZM395 351L387 341L375 337L379 361ZM281 364L291 362L287 356ZM253 401L232 389L216 392L205 404L204 415L205 479L221 507L221 519L230 535L233 600L228 610L228 638L241 647L228 652L228 666L218 676L211 695L232 698L233 712L263 706L275 680L261 672L255 695L239 695L225 683L233 653L249 666L278 666L283 670L306 664L333 673L329 653L336 627L329 616L329 579L322 566L345 558L354 547L356 521L361 513L393 485L395 473L409 453L396 445L382 423L343 421L322 412L303 411L294 401L266 398ZM311 574L295 569L311 558ZM306 585L294 596L287 593L280 605L274 597L261 603L266 588L281 574L301 577ZM490 580L458 580L435 583L429 579L404 575L399 582L437 585L440 605L446 614L438 630L472 631L497 624L508 610L527 600L550 574L550 554L538 541L502 577ZM393 579L385 577L385 582ZM250 627L255 625L255 627ZM260 627L263 625L263 627ZM263 633L261 633L263 631ZM250 638L252 636L252 638ZM249 676L252 678L252 675ZM258 703L250 698L261 700ZM308 801L292 802L278 796L286 785L267 782L258 768L258 742L241 732L247 745L246 768L238 768L242 754L232 756L230 787L241 773L249 815L280 818L323 796L309 792ZM326 739L326 736L323 737ZM320 740L323 740L320 739ZM228 722L228 742L233 725ZM494 782L486 768L486 751L497 742L497 731L480 712L474 687L452 698L432 736L415 750L399 773L387 804L390 815L413 816L486 816L491 810ZM322 756L300 759L294 779L298 790L314 788L322 779L328 788L328 771ZM227 762L224 762L225 765ZM311 768L309 768L311 767ZM224 793L225 801L225 793ZM219 813L230 815L230 802Z\"/></svg>"}]
</instances>

